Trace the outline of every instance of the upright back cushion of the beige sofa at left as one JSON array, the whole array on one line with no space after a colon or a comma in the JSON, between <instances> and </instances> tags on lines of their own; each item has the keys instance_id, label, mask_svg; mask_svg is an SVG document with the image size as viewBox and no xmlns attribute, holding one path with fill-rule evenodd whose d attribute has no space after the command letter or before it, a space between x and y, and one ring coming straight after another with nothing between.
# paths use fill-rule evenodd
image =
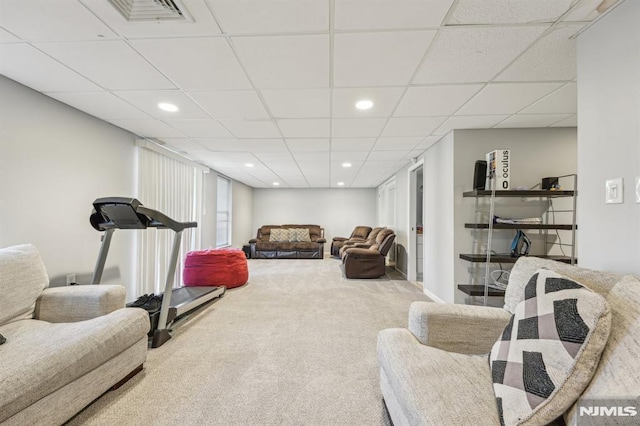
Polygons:
<instances>
[{"instance_id":1,"label":"upright back cushion of the beige sofa at left","mask_svg":"<svg viewBox=\"0 0 640 426\"><path fill-rule=\"evenodd\" d=\"M34 246L0 249L0 325L33 318L36 300L48 285L47 271Z\"/></svg>"}]
</instances>

